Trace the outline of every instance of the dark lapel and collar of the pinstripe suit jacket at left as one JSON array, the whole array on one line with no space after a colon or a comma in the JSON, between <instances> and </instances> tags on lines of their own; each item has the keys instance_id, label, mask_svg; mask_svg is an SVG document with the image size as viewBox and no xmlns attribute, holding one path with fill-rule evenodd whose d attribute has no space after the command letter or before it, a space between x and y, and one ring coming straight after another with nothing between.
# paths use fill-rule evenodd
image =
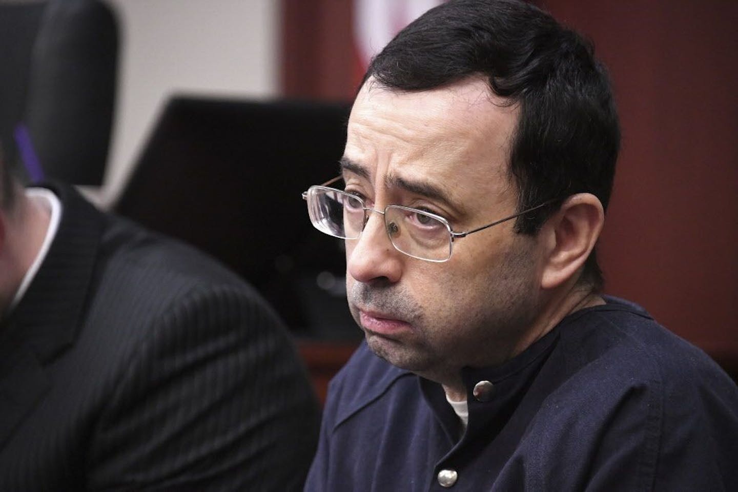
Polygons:
<instances>
[{"instance_id":1,"label":"dark lapel and collar of the pinstripe suit jacket at left","mask_svg":"<svg viewBox=\"0 0 738 492\"><path fill-rule=\"evenodd\" d=\"M75 190L44 186L61 199L61 222L26 294L0 325L0 448L49 389L45 364L74 343L103 234L103 214Z\"/></svg>"}]
</instances>

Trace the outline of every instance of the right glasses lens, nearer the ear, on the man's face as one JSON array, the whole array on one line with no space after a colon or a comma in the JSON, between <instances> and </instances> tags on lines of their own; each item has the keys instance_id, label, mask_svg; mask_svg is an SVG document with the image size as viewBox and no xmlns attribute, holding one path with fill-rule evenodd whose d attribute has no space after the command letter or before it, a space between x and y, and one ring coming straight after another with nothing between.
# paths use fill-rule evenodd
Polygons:
<instances>
[{"instance_id":1,"label":"right glasses lens, nearer the ear, on the man's face","mask_svg":"<svg viewBox=\"0 0 738 492\"><path fill-rule=\"evenodd\" d=\"M446 261L451 257L451 231L435 216L390 205L384 215L393 245L421 260Z\"/></svg>"}]
</instances>

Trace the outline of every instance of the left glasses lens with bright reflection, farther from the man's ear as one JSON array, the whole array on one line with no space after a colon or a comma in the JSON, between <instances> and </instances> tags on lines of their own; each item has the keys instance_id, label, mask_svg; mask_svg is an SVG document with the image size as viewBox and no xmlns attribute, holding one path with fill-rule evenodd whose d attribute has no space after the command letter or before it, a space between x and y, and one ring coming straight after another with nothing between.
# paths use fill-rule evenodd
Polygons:
<instances>
[{"instance_id":1,"label":"left glasses lens with bright reflection, farther from the man's ear","mask_svg":"<svg viewBox=\"0 0 738 492\"><path fill-rule=\"evenodd\" d=\"M359 238L364 226L362 201L332 188L308 189L308 213L316 229L336 238Z\"/></svg>"}]
</instances>

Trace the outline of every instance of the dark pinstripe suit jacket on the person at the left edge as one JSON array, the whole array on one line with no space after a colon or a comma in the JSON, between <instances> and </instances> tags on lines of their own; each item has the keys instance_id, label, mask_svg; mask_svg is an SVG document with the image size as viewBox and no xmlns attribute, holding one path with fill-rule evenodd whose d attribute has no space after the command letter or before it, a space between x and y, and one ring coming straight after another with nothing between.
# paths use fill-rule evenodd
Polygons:
<instances>
[{"instance_id":1,"label":"dark pinstripe suit jacket on the person at the left edge","mask_svg":"<svg viewBox=\"0 0 738 492\"><path fill-rule=\"evenodd\" d=\"M318 409L251 288L52 186L63 218L0 325L0 491L300 490Z\"/></svg>"}]
</instances>

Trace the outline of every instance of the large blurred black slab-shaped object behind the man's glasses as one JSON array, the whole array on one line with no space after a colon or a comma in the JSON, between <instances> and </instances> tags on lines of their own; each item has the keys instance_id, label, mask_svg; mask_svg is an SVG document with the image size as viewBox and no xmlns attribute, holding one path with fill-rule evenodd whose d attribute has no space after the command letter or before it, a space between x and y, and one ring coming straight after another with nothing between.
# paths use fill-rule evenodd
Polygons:
<instances>
[{"instance_id":1,"label":"large blurred black slab-shaped object behind the man's glasses","mask_svg":"<svg viewBox=\"0 0 738 492\"><path fill-rule=\"evenodd\" d=\"M176 97L114 209L226 263L295 333L356 339L342 242L300 198L337 176L347 119L345 104Z\"/></svg>"}]
</instances>

